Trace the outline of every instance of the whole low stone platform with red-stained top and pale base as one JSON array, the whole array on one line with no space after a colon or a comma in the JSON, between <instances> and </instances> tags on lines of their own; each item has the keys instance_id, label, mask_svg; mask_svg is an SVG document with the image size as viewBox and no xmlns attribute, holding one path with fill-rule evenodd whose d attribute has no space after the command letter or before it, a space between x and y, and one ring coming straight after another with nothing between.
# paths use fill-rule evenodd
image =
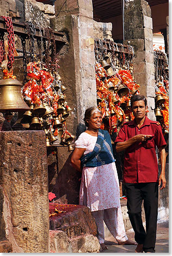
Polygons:
<instances>
[{"instance_id":1,"label":"whole low stone platform with red-stained top and pale base","mask_svg":"<svg viewBox=\"0 0 172 256\"><path fill-rule=\"evenodd\" d=\"M50 216L50 252L99 252L96 223L87 206L50 203L49 211L57 212Z\"/></svg>"}]
</instances>

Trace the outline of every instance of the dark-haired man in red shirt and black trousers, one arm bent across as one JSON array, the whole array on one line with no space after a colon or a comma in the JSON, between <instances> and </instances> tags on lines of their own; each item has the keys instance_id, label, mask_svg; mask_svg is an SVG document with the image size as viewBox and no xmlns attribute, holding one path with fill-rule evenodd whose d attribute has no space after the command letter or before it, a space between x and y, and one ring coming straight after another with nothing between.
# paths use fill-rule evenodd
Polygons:
<instances>
[{"instance_id":1,"label":"dark-haired man in red shirt and black trousers, one arm bent across","mask_svg":"<svg viewBox=\"0 0 172 256\"><path fill-rule=\"evenodd\" d=\"M125 150L124 182L128 215L138 243L135 252L155 252L158 186L165 187L165 139L159 122L146 117L146 98L131 97L134 120L124 123L115 139L116 151ZM158 179L156 146L161 160ZM146 231L142 222L142 202L146 218Z\"/></svg>"}]
</instances>

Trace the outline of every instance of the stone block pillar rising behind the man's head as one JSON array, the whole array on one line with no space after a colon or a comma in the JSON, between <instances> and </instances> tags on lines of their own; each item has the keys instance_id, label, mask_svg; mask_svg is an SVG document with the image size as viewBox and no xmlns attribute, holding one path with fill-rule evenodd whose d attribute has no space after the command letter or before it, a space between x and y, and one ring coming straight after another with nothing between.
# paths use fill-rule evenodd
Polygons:
<instances>
[{"instance_id":1,"label":"stone block pillar rising behind the man's head","mask_svg":"<svg viewBox=\"0 0 172 256\"><path fill-rule=\"evenodd\" d=\"M140 94L148 100L148 118L156 120L155 113L155 67L153 64L152 18L149 4L134 0L125 4L125 41L134 47L135 80L140 84Z\"/></svg>"}]
</instances>

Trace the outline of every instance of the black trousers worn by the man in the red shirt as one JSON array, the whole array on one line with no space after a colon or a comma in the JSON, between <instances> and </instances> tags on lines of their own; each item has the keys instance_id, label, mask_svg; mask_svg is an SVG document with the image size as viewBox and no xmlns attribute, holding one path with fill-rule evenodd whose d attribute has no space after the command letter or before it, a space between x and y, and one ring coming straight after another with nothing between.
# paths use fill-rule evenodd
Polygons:
<instances>
[{"instance_id":1,"label":"black trousers worn by the man in the red shirt","mask_svg":"<svg viewBox=\"0 0 172 256\"><path fill-rule=\"evenodd\" d=\"M158 183L125 183L128 215L137 243L143 244L144 252L155 252L158 215ZM146 231L142 222L142 202L146 219Z\"/></svg>"}]
</instances>

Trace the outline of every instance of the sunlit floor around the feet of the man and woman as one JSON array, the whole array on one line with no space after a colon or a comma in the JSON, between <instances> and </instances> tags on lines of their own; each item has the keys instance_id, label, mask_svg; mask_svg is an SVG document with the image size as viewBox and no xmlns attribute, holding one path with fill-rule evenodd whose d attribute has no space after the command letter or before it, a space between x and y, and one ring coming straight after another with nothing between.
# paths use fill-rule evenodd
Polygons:
<instances>
[{"instance_id":1,"label":"sunlit floor around the feet of the man and woman","mask_svg":"<svg viewBox=\"0 0 172 256\"><path fill-rule=\"evenodd\" d=\"M128 230L128 239L134 240L134 231ZM113 236L107 237L105 240L108 250L103 250L100 253L134 253L136 246L131 245L118 245ZM157 224L157 237L156 237L156 253L169 252L169 223L168 220L163 220Z\"/></svg>"}]
</instances>

